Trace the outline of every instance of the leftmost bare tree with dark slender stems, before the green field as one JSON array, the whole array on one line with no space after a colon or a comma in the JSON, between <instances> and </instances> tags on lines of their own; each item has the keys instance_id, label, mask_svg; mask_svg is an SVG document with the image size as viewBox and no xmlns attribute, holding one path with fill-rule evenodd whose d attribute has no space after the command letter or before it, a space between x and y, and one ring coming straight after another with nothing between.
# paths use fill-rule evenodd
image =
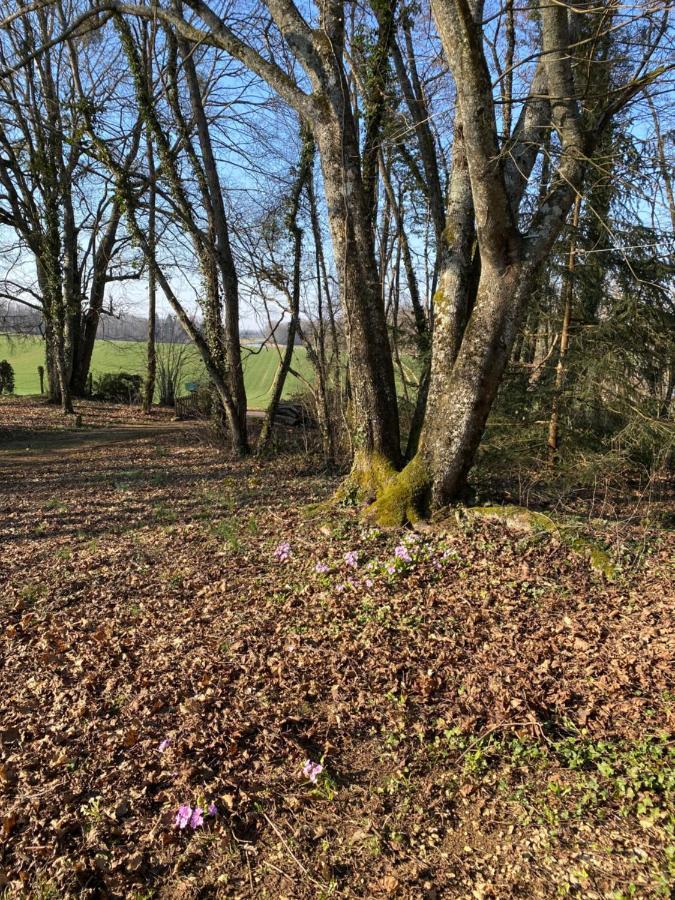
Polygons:
<instances>
[{"instance_id":1,"label":"leftmost bare tree with dark slender stems, before the green field","mask_svg":"<svg viewBox=\"0 0 675 900\"><path fill-rule=\"evenodd\" d=\"M59 2L12 17L0 64L50 43L72 12L72 3ZM98 109L110 99L114 79L91 74L98 54L109 51L71 36L0 82L0 223L34 258L37 290L15 296L43 313L50 399L64 411L71 394L86 390L106 286L138 275L121 268L119 202L83 159L82 104ZM127 166L137 148L132 132Z\"/></svg>"}]
</instances>

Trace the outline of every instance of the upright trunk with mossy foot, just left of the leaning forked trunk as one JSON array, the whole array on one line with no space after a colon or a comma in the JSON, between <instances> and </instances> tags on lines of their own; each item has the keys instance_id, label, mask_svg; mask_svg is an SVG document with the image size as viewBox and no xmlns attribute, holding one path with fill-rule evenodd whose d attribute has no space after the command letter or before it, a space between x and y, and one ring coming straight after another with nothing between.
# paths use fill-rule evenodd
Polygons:
<instances>
[{"instance_id":1,"label":"upright trunk with mossy foot, just left of the leaning forked trunk","mask_svg":"<svg viewBox=\"0 0 675 900\"><path fill-rule=\"evenodd\" d=\"M378 13L369 97L364 99L363 153L343 63L344 21L337 6L324 11L326 37L314 32L320 60L318 114L311 125L319 149L333 257L346 323L350 419L355 449L351 482L365 494L384 471L401 464L394 362L375 253L378 142L385 106L385 71L395 4Z\"/></svg>"}]
</instances>

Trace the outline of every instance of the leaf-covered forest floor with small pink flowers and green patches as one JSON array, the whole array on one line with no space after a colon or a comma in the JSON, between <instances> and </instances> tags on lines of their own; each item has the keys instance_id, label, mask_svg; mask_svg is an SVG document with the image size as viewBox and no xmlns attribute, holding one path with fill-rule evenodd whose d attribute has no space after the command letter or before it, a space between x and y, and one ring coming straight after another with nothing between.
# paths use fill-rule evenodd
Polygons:
<instances>
[{"instance_id":1,"label":"leaf-covered forest floor with small pink flowers and green patches","mask_svg":"<svg viewBox=\"0 0 675 900\"><path fill-rule=\"evenodd\" d=\"M302 436L80 412L0 401L0 893L669 895L672 532L594 522L610 581L317 511Z\"/></svg>"}]
</instances>

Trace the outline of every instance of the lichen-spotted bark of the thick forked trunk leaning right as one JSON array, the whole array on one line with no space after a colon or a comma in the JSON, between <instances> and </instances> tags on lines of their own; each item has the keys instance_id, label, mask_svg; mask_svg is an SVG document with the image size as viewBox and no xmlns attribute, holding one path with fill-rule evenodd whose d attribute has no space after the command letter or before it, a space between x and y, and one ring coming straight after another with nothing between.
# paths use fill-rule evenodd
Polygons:
<instances>
[{"instance_id":1,"label":"lichen-spotted bark of the thick forked trunk leaning right","mask_svg":"<svg viewBox=\"0 0 675 900\"><path fill-rule=\"evenodd\" d=\"M480 274L470 308L467 301L474 280L469 265L470 231L464 228L455 233L449 222L448 243L451 248L453 242L459 243L449 253L434 298L431 385L419 450L380 493L370 513L388 525L414 520L461 495L536 273L562 228L580 189L589 153L602 132L601 128L585 130L574 99L567 10L564 6L546 8L542 11L543 69L536 70L533 83L543 71L555 103L549 106L536 98L532 104L527 101L515 134L522 136L531 132L531 127L539 129L541 117L549 110L561 153L552 187L526 234L521 235L518 209L543 132L534 151L529 146L526 152L512 148L512 156L519 159L520 172L515 177L499 153L492 84L479 24L482 3L476 0L470 7L465 0L432 0L432 9L457 87L455 142L461 144L455 148L456 192L453 195L451 185L448 219L461 220L460 210L468 220L472 205ZM462 154L468 178L460 177ZM463 318L467 322L464 329Z\"/></svg>"}]
</instances>

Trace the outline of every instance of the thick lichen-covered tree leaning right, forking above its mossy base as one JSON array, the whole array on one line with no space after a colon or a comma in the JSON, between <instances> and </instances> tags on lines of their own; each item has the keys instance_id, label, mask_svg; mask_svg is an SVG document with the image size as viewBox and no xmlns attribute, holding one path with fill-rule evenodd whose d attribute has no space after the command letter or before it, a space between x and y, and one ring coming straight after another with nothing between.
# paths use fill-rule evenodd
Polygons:
<instances>
[{"instance_id":1,"label":"thick lichen-covered tree leaning right, forking above its mossy base","mask_svg":"<svg viewBox=\"0 0 675 900\"><path fill-rule=\"evenodd\" d=\"M506 142L508 154L503 153L483 5L432 0L432 10L457 90L448 259L434 298L431 384L420 448L372 510L389 524L417 518L461 495L537 272L581 189L588 160L616 113L662 72L645 67L663 21L648 21L647 50L626 75L611 12L565 3L542 7L538 61ZM521 203L549 129L556 144L550 188L525 217Z\"/></svg>"}]
</instances>

